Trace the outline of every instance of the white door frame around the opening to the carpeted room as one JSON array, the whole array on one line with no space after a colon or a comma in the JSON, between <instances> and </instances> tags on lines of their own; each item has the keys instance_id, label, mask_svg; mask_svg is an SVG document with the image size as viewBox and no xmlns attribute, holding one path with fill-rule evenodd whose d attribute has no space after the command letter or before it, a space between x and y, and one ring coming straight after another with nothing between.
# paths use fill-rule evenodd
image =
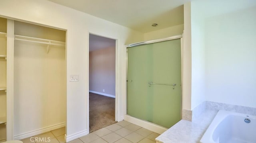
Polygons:
<instances>
[{"instance_id":1,"label":"white door frame around the opening to the carpeted room","mask_svg":"<svg viewBox=\"0 0 256 143\"><path fill-rule=\"evenodd\" d=\"M100 37L105 37L105 38L108 38L108 39L113 39L113 40L115 40L116 41L116 46L115 46L115 121L119 121L119 119L120 119L120 115L118 114L118 112L119 112L119 109L118 109L118 105L119 105L119 101L118 101L118 97L119 97L119 95L118 95L118 88L119 88L119 86L118 86L118 39L116 39L116 38L113 38L113 37L108 37L108 36L104 36L104 35L101 35L101 34L98 34L98 33L93 33L93 32L88 32L88 64L87 64L87 67L88 67L88 75L87 75L87 77L88 77L88 79L89 79L89 76L90 76L90 72L89 72L89 53L90 53L90 34L92 34L92 35L96 35L96 36L100 36ZM89 79L90 80L90 79ZM89 127L89 123L90 123L90 118L89 118L89 108L90 108L90 106L89 106L89 80L88 80L88 94L87 94L87 97L86 97L86 100L87 100L87 106L86 106L86 108L87 108L87 112L86 112L86 118L87 118L87 131L88 131L88 133L90 132L90 127Z\"/></svg>"}]
</instances>

